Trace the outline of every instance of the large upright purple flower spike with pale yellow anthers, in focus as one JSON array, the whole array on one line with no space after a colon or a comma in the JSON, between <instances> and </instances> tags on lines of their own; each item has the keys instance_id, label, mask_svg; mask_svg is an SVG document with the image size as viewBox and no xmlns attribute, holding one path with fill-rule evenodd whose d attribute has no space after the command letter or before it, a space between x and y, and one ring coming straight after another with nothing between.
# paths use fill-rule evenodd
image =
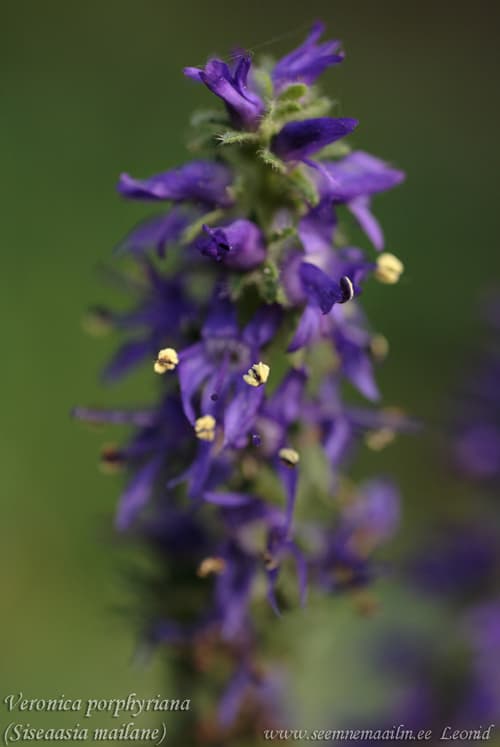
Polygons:
<instances>
[{"instance_id":1,"label":"large upright purple flower spike with pale yellow anthers, in focus","mask_svg":"<svg viewBox=\"0 0 500 747\"><path fill-rule=\"evenodd\" d=\"M275 64L238 52L185 68L218 107L193 118L190 146L202 155L118 181L122 197L160 210L116 247L132 270L109 275L129 306L97 307L93 326L121 340L107 382L143 363L158 379L146 379L147 407L74 415L127 426L101 465L125 476L116 529L159 557L142 646L176 646L179 669L196 670L200 710L207 704L196 738L182 733L179 744L253 744L255 724L275 723L282 688L262 666L254 613L284 615L310 587L367 586L372 554L399 521L390 481L343 477L357 449L377 453L413 430L377 407L388 343L360 303L374 280L403 272L376 253L384 236L372 201L404 175L351 151L357 119L329 116L316 83L344 54L323 33L315 23ZM367 402L353 404L349 387ZM344 484L332 518L325 505Z\"/></svg>"}]
</instances>

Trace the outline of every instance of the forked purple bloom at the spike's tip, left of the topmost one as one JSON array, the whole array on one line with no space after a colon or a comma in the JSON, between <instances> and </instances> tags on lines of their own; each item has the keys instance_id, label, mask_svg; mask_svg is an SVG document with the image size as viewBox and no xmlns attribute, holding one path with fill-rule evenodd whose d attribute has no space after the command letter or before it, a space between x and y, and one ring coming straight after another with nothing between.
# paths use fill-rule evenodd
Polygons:
<instances>
[{"instance_id":1,"label":"forked purple bloom at the spike's tip, left of the topmost one","mask_svg":"<svg viewBox=\"0 0 500 747\"><path fill-rule=\"evenodd\" d=\"M264 111L264 104L248 87L250 66L249 55L241 54L236 57L232 69L222 60L212 59L203 70L186 67L184 74L204 83L212 93L224 101L235 127L256 130Z\"/></svg>"}]
</instances>

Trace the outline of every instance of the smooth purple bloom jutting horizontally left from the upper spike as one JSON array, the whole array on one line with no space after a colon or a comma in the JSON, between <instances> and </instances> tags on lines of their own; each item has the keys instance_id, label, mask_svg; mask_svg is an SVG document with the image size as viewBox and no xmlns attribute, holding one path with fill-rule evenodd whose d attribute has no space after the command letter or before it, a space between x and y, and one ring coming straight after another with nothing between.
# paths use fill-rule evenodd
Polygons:
<instances>
[{"instance_id":1,"label":"smooth purple bloom jutting horizontally left from the upper spike","mask_svg":"<svg viewBox=\"0 0 500 747\"><path fill-rule=\"evenodd\" d=\"M149 179L122 174L118 192L131 200L194 202L208 207L231 204L228 187L232 181L227 166L216 161L192 161Z\"/></svg>"}]
</instances>

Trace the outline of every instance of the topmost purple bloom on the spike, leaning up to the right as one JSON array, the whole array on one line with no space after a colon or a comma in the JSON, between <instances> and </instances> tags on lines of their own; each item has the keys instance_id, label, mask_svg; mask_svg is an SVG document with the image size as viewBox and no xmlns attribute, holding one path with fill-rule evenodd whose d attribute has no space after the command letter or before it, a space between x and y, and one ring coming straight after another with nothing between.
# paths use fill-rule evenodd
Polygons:
<instances>
[{"instance_id":1,"label":"topmost purple bloom on the spike, leaning up to the right","mask_svg":"<svg viewBox=\"0 0 500 747\"><path fill-rule=\"evenodd\" d=\"M339 41L317 43L324 31L323 23L315 23L305 42L276 63L272 78L277 91L295 81L311 85L327 68L342 62Z\"/></svg>"}]
</instances>

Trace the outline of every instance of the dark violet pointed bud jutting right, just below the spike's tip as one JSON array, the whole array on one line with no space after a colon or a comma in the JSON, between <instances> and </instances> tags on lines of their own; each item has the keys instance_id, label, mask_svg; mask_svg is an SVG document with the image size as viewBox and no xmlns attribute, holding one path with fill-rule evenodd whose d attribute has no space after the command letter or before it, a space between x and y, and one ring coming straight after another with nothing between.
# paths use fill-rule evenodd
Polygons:
<instances>
[{"instance_id":1,"label":"dark violet pointed bud jutting right, just below the spike's tip","mask_svg":"<svg viewBox=\"0 0 500 747\"><path fill-rule=\"evenodd\" d=\"M308 156L349 135L357 125L357 119L332 117L289 122L274 136L272 150L283 161L307 162Z\"/></svg>"}]
</instances>

